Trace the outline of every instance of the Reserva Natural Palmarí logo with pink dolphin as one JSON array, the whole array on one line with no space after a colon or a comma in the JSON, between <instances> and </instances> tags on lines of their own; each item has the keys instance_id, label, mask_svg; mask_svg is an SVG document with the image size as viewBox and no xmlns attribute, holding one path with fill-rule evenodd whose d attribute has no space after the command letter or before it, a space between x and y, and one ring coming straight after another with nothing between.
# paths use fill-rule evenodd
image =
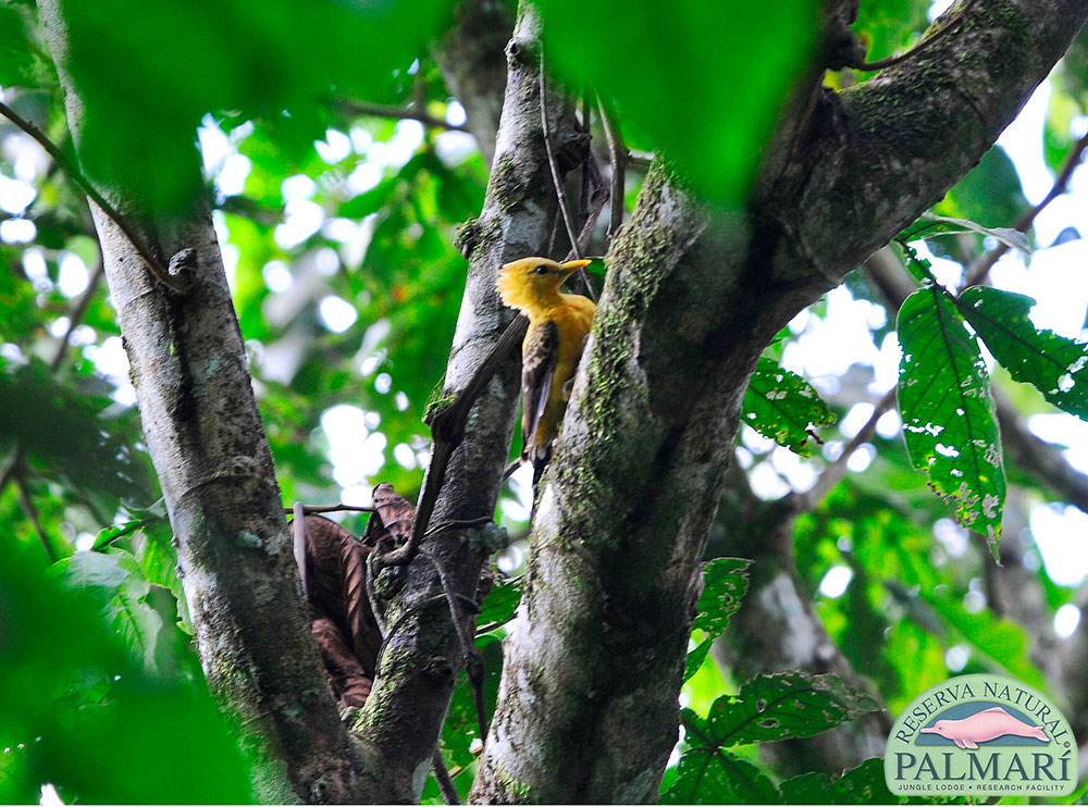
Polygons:
<instances>
[{"instance_id":1,"label":"Reserva Natural Palmar\u00ed logo with pink dolphin","mask_svg":"<svg viewBox=\"0 0 1088 807\"><path fill-rule=\"evenodd\" d=\"M1065 796L1077 744L1061 711L1002 675L961 675L926 690L895 720L888 790L908 796Z\"/></svg>"}]
</instances>

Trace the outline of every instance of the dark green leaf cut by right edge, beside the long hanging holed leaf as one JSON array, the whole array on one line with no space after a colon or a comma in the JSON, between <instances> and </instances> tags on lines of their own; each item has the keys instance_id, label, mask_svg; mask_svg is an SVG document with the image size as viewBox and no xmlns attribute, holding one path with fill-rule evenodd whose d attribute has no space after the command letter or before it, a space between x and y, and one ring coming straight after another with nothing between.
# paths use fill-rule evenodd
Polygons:
<instances>
[{"instance_id":1,"label":"dark green leaf cut by right edge, beside the long hanging holed leaf","mask_svg":"<svg viewBox=\"0 0 1088 807\"><path fill-rule=\"evenodd\" d=\"M1035 300L1024 295L972 286L959 302L1013 378L1031 384L1059 409L1088 419L1088 345L1037 328L1028 316Z\"/></svg>"}]
</instances>

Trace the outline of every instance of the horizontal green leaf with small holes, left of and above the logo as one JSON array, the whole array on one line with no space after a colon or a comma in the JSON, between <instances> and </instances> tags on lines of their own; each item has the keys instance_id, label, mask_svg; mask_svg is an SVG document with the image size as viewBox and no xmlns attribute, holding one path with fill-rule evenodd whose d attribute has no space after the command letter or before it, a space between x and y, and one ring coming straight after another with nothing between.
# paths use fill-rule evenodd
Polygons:
<instances>
[{"instance_id":1,"label":"horizontal green leaf with small holes, left of and above the logo","mask_svg":"<svg viewBox=\"0 0 1088 807\"><path fill-rule=\"evenodd\" d=\"M880 708L871 696L836 675L759 674L737 695L715 700L709 717L693 723L691 730L715 747L774 743L812 736Z\"/></svg>"}]
</instances>

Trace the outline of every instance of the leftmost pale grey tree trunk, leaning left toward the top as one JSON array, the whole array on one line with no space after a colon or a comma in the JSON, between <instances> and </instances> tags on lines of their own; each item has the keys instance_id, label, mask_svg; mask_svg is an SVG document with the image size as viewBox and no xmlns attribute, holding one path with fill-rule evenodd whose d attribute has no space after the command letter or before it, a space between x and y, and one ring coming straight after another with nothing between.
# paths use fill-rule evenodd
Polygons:
<instances>
[{"instance_id":1,"label":"leftmost pale grey tree trunk, leaning left toward the top","mask_svg":"<svg viewBox=\"0 0 1088 807\"><path fill-rule=\"evenodd\" d=\"M66 70L64 16L54 0L39 8L78 144L85 110ZM259 798L364 799L361 757L306 620L210 208L195 200L151 224L127 190L124 177L103 188L162 263L184 249L195 256L189 290L169 293L118 226L92 211L209 687L239 731Z\"/></svg>"}]
</instances>

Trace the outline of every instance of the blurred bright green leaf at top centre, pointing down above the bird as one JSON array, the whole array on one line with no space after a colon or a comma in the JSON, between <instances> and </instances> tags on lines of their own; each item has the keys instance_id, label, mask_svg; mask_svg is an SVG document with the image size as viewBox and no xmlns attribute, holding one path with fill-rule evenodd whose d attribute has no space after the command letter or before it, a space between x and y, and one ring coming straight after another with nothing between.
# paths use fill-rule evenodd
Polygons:
<instances>
[{"instance_id":1,"label":"blurred bright green leaf at top centre, pointing down above the bird","mask_svg":"<svg viewBox=\"0 0 1088 807\"><path fill-rule=\"evenodd\" d=\"M691 186L739 203L813 53L816 4L544 0L544 61L615 100L623 134ZM602 36L602 32L608 32ZM740 77L743 76L743 79Z\"/></svg>"}]
</instances>

